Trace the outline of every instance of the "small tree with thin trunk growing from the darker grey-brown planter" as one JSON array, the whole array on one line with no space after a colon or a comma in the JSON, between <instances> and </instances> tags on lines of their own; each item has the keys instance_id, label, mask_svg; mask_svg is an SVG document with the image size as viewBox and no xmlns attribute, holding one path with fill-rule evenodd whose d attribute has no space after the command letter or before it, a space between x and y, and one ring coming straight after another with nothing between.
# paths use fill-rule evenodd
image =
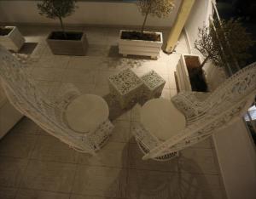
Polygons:
<instances>
[{"instance_id":1,"label":"small tree with thin trunk growing from the darker grey-brown planter","mask_svg":"<svg viewBox=\"0 0 256 199\"><path fill-rule=\"evenodd\" d=\"M75 3L76 0L43 0L42 3L38 3L39 14L49 19L59 19L63 34L66 35L62 18L73 14L76 9Z\"/></svg>"}]
</instances>

